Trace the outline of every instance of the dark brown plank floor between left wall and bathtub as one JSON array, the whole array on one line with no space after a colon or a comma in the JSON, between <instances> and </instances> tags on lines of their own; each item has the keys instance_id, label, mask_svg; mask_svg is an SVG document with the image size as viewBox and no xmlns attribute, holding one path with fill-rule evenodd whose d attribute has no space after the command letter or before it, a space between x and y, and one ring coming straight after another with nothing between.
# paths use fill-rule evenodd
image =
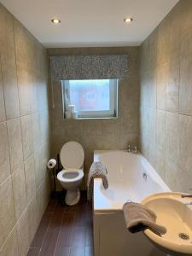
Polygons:
<instances>
[{"instance_id":1,"label":"dark brown plank floor between left wall and bathtub","mask_svg":"<svg viewBox=\"0 0 192 256\"><path fill-rule=\"evenodd\" d=\"M49 201L27 256L93 256L92 211L82 193L79 204Z\"/></svg>"}]
</instances>

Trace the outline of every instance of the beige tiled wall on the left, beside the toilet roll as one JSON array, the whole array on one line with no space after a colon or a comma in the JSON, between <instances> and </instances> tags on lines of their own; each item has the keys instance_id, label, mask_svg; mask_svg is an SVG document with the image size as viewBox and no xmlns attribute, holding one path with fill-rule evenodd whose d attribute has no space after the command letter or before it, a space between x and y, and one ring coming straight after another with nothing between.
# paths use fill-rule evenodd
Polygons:
<instances>
[{"instance_id":1,"label":"beige tiled wall on the left, beside the toilet roll","mask_svg":"<svg viewBox=\"0 0 192 256\"><path fill-rule=\"evenodd\" d=\"M48 202L46 50L0 4L0 254L26 255Z\"/></svg>"}]
</instances>

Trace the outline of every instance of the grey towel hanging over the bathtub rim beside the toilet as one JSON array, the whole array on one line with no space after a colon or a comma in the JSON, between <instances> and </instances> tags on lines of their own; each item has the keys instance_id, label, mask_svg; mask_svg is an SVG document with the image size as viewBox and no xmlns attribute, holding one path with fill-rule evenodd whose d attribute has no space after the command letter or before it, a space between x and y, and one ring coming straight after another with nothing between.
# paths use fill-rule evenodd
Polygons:
<instances>
[{"instance_id":1,"label":"grey towel hanging over the bathtub rim beside the toilet","mask_svg":"<svg viewBox=\"0 0 192 256\"><path fill-rule=\"evenodd\" d=\"M88 175L88 183L87 183L87 199L89 201L92 200L93 195L93 186L94 186L94 178L95 177L102 177L103 187L108 189L108 178L107 178L107 169L106 166L102 164L102 162L94 162L90 166L90 172Z\"/></svg>"}]
</instances>

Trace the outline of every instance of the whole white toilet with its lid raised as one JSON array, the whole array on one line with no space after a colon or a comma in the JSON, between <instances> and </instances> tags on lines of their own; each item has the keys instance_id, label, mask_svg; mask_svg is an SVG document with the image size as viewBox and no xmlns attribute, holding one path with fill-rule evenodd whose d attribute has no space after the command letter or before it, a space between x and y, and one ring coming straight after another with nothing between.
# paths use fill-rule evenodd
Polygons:
<instances>
[{"instance_id":1,"label":"whole white toilet with its lid raised","mask_svg":"<svg viewBox=\"0 0 192 256\"><path fill-rule=\"evenodd\" d=\"M80 200L79 186L84 177L84 148L76 142L66 143L61 148L60 160L64 169L57 174L57 179L67 189L67 205L73 206Z\"/></svg>"}]
</instances>

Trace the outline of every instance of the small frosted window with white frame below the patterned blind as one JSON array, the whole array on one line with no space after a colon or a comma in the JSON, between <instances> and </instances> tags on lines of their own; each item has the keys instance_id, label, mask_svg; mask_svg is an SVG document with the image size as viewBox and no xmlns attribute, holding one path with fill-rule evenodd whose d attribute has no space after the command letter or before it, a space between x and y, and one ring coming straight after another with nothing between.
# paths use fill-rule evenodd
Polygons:
<instances>
[{"instance_id":1,"label":"small frosted window with white frame below the patterned blind","mask_svg":"<svg viewBox=\"0 0 192 256\"><path fill-rule=\"evenodd\" d=\"M75 105L79 118L117 117L118 80L65 80L62 98L64 110Z\"/></svg>"}]
</instances>

